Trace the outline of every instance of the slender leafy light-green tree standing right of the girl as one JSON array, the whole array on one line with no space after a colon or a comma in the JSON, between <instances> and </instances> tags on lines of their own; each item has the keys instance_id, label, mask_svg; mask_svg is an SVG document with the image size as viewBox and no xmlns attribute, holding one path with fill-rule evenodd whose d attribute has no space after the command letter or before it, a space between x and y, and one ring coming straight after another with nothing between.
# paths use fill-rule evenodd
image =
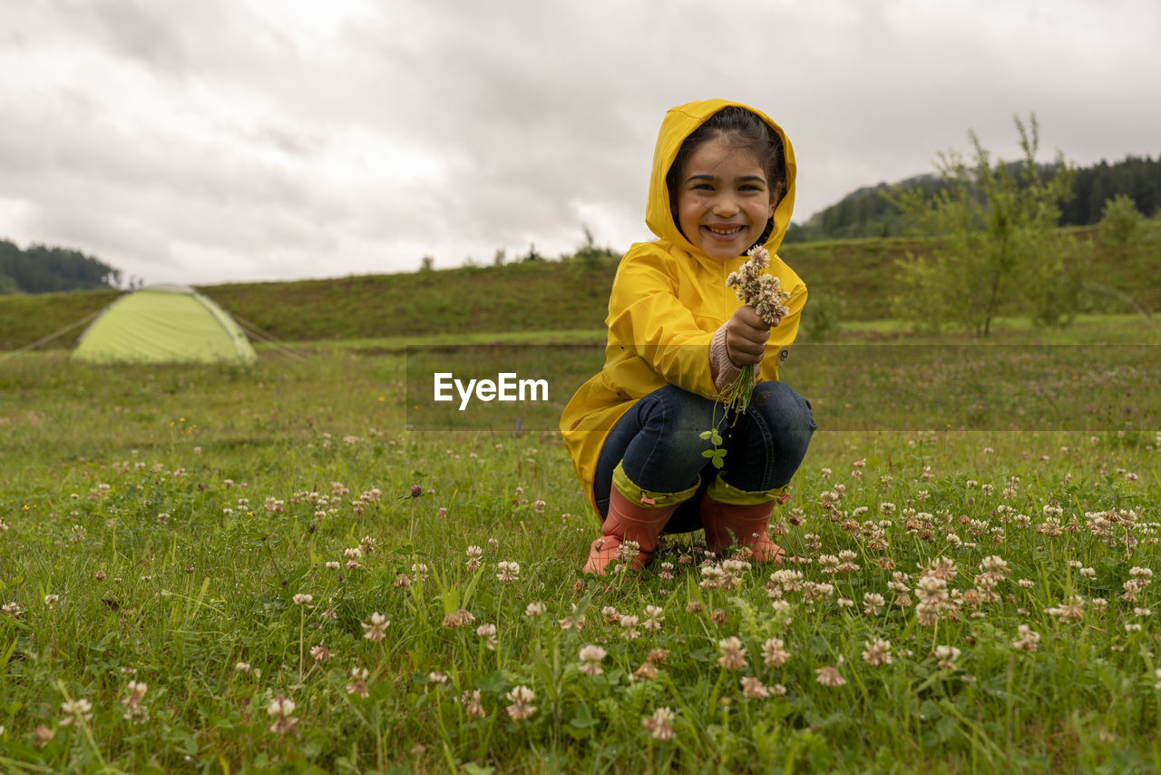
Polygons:
<instances>
[{"instance_id":1,"label":"slender leafy light-green tree standing right of the girl","mask_svg":"<svg viewBox=\"0 0 1161 775\"><path fill-rule=\"evenodd\" d=\"M965 328L988 336L997 315L1024 314L1046 324L1070 320L1080 295L1079 251L1060 237L1060 204L1072 191L1072 168L1058 155L1041 167L1039 125L1015 119L1023 159L993 163L975 132L968 166L957 151L942 152L943 187L894 189L888 199L936 238L930 257L908 253L899 263L904 294L896 314L938 330Z\"/></svg>"}]
</instances>

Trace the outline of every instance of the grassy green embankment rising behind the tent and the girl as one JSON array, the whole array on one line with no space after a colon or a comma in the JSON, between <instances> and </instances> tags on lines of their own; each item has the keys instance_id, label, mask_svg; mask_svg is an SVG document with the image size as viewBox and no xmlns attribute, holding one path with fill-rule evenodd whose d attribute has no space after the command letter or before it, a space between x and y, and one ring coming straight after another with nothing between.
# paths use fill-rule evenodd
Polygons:
<instances>
[{"instance_id":1,"label":"grassy green embankment rising behind the tent and the girl","mask_svg":"<svg viewBox=\"0 0 1161 775\"><path fill-rule=\"evenodd\" d=\"M1094 250L1090 311L1161 310L1161 239L1131 250ZM1091 230L1075 230L1090 238ZM842 302L842 320L890 315L895 266L929 241L857 239L785 245L780 256L806 280L815 303ZM201 288L247 326L284 342L599 329L604 325L616 259L525 261L505 266L254 282ZM14 350L92 315L118 292L73 292L0 297L0 350ZM79 325L45 346L71 347Z\"/></svg>"}]
</instances>

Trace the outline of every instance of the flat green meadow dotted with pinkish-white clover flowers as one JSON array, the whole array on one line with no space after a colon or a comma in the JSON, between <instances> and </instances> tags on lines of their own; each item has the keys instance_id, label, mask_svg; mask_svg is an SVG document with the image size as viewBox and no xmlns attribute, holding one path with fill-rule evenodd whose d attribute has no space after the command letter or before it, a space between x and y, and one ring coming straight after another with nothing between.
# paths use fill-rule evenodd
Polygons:
<instances>
[{"instance_id":1,"label":"flat green meadow dotted with pinkish-white clover flowers","mask_svg":"<svg viewBox=\"0 0 1161 775\"><path fill-rule=\"evenodd\" d=\"M791 562L677 536L601 580L550 429L592 333L6 360L0 768L1159 769L1156 326L856 328L783 373L820 426ZM464 364L550 401L417 428Z\"/></svg>"}]
</instances>

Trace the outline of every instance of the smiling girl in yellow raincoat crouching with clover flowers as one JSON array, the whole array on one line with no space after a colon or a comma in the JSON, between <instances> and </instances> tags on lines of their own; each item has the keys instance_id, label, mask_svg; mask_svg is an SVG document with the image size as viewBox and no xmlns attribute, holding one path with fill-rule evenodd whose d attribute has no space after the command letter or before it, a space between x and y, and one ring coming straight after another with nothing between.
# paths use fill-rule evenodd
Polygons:
<instances>
[{"instance_id":1,"label":"smiling girl in yellow raincoat crouching with clover flowers","mask_svg":"<svg viewBox=\"0 0 1161 775\"><path fill-rule=\"evenodd\" d=\"M712 551L737 544L758 561L783 553L766 525L773 504L789 498L786 486L815 429L809 402L777 381L807 295L773 256L793 207L794 151L767 116L723 100L665 115L646 208L658 239L621 259L605 367L561 416L584 493L604 521L585 573L604 575L619 552L644 567L662 531L704 528ZM770 252L765 271L791 294L774 328L726 285L755 245ZM726 416L717 401L747 364L757 365L750 408ZM701 437L715 423L721 471Z\"/></svg>"}]
</instances>

